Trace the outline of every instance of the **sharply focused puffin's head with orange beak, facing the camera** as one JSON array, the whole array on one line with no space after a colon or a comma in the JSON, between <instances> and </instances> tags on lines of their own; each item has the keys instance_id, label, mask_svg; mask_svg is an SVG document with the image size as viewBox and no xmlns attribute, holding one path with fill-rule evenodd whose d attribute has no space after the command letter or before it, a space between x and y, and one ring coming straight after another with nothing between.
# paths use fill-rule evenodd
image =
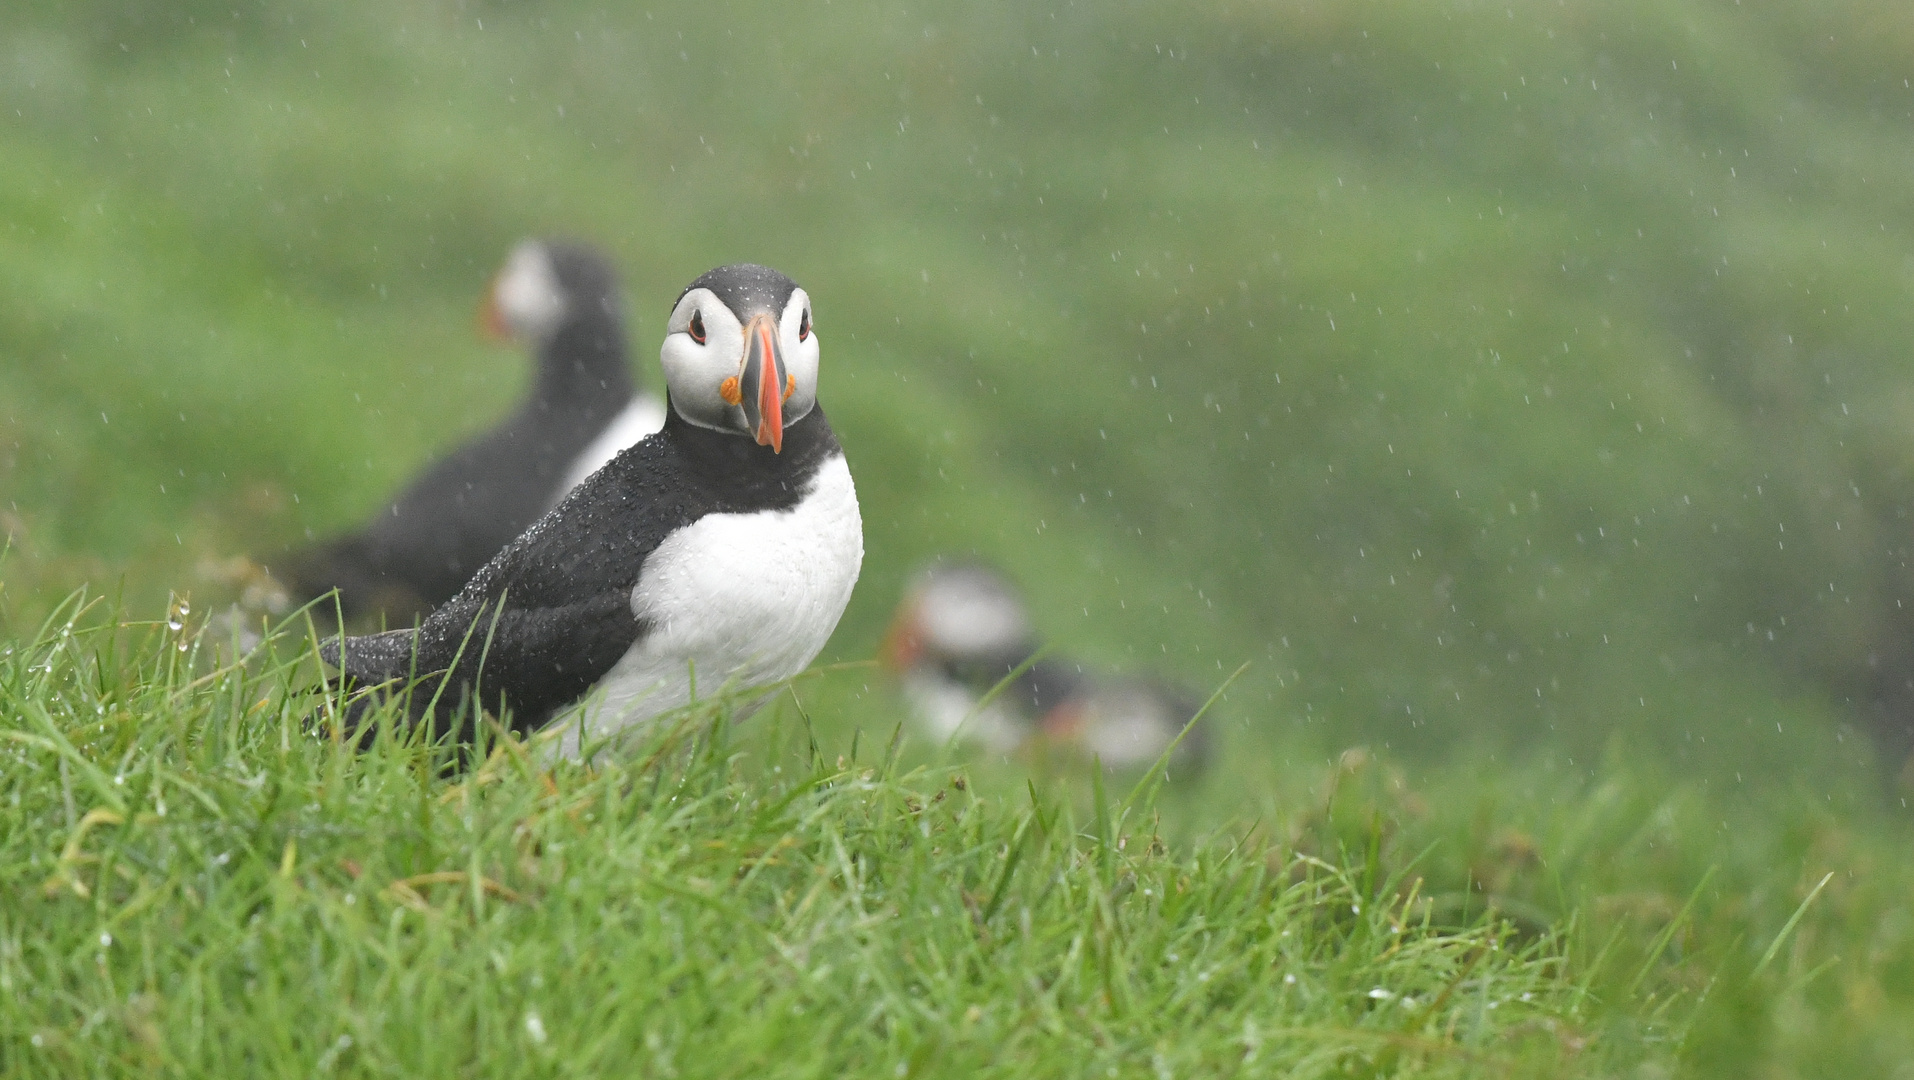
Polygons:
<instances>
[{"instance_id":1,"label":"sharply focused puffin's head with orange beak, facing the camera","mask_svg":"<svg viewBox=\"0 0 1914 1080\"><path fill-rule=\"evenodd\" d=\"M817 404L812 299L769 266L720 266L678 297L658 360L678 416L783 450Z\"/></svg>"}]
</instances>

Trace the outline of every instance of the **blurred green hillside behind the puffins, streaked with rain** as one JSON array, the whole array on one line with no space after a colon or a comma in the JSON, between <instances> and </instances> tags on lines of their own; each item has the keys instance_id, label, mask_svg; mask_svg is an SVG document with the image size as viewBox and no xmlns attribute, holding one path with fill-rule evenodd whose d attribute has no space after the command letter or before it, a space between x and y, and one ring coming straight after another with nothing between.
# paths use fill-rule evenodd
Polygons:
<instances>
[{"instance_id":1,"label":"blurred green hillside behind the puffins, streaked with rain","mask_svg":"<svg viewBox=\"0 0 1914 1080\"><path fill-rule=\"evenodd\" d=\"M1881 791L1910 75L1883 2L11 4L8 619L369 515L521 393L473 306L572 234L653 383L704 268L815 297L869 548L829 655L972 551L1078 655L1254 661L1233 760Z\"/></svg>"}]
</instances>

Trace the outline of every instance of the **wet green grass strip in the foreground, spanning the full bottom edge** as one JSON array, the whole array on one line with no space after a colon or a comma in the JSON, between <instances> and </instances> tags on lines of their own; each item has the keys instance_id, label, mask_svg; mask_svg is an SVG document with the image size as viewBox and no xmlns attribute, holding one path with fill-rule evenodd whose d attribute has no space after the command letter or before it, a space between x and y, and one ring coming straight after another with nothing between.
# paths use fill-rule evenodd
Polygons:
<instances>
[{"instance_id":1,"label":"wet green grass strip in the foreground, spanning the full bottom edge","mask_svg":"<svg viewBox=\"0 0 1914 1080\"><path fill-rule=\"evenodd\" d=\"M1761 785L1757 812L1625 754L1445 774L1355 749L1215 825L1187 781L819 743L798 701L842 670L591 766L507 741L448 772L392 730L329 737L302 640L234 663L191 620L77 599L0 653L8 1076L1749 1076L1914 1051L1906 837L1813 793Z\"/></svg>"}]
</instances>

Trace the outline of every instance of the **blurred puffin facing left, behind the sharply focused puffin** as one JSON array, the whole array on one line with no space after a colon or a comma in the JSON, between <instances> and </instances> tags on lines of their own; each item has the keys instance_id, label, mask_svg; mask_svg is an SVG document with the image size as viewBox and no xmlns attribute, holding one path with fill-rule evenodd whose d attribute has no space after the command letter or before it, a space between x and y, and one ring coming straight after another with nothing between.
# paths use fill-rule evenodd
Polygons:
<instances>
[{"instance_id":1,"label":"blurred puffin facing left, behind the sharply focused puffin","mask_svg":"<svg viewBox=\"0 0 1914 1080\"><path fill-rule=\"evenodd\" d=\"M300 599L337 588L348 620L385 615L410 624L664 423L662 402L634 385L618 274L591 247L521 243L486 291L480 326L530 343L530 394L419 473L364 529L297 555L289 584Z\"/></svg>"}]
</instances>

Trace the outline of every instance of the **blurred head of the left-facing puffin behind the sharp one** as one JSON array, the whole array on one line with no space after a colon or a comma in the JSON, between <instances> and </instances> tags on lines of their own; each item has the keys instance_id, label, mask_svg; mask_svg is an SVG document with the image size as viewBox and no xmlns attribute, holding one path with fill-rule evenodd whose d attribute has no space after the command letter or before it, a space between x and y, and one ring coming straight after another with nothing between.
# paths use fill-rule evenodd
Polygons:
<instances>
[{"instance_id":1,"label":"blurred head of the left-facing puffin behind the sharp one","mask_svg":"<svg viewBox=\"0 0 1914 1080\"><path fill-rule=\"evenodd\" d=\"M624 318L611 260L582 243L526 239L492 278L478 324L492 337L536 347L593 306L614 322Z\"/></svg>"}]
</instances>

